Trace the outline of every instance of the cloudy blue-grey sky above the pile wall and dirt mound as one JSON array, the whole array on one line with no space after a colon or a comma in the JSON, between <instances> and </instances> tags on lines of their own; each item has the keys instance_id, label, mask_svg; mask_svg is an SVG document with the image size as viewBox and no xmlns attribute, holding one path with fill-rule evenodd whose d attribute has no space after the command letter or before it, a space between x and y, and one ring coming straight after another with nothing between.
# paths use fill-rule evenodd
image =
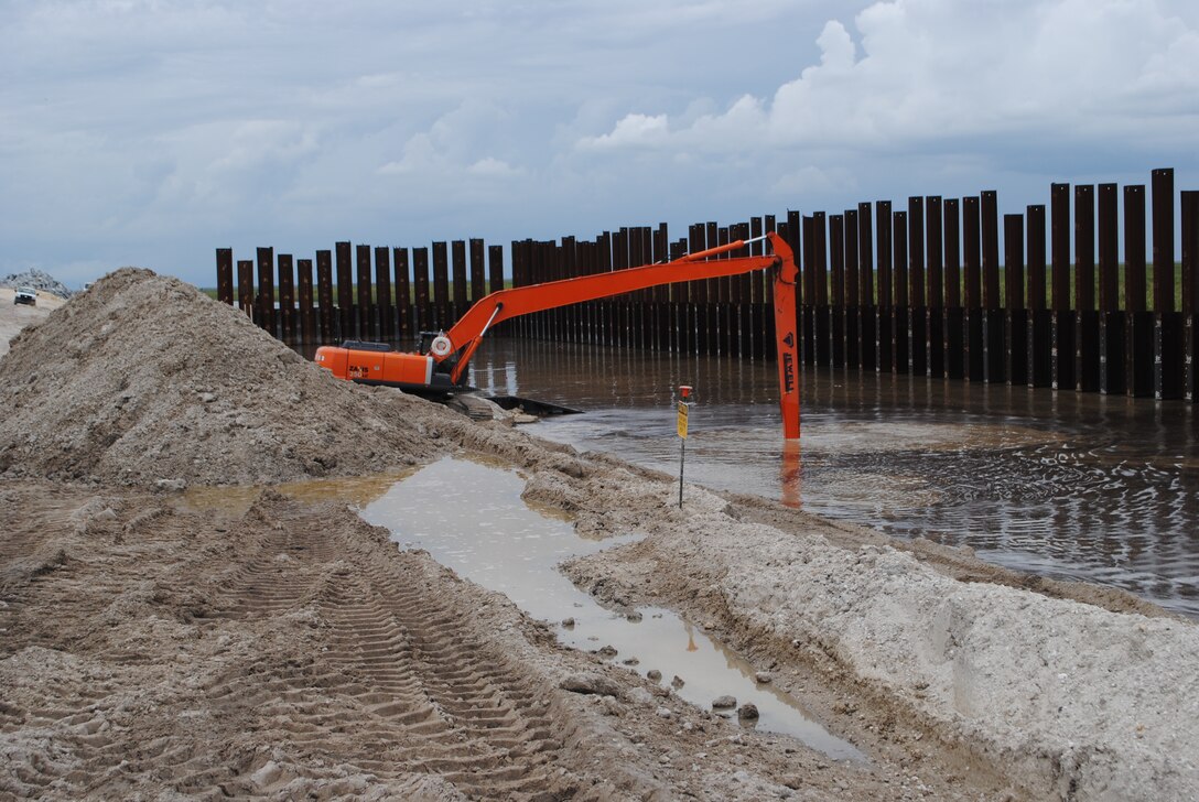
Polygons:
<instances>
[{"instance_id":1,"label":"cloudy blue-grey sky above the pile wall and dirt mound","mask_svg":"<svg viewBox=\"0 0 1199 802\"><path fill-rule=\"evenodd\" d=\"M0 275L1199 189L1194 0L0 0Z\"/></svg>"}]
</instances>

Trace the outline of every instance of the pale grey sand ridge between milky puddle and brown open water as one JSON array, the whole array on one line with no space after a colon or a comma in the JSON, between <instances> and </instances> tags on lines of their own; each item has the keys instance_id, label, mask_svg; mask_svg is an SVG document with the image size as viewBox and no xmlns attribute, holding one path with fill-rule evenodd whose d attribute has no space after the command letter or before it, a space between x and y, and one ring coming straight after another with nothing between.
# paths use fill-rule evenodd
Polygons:
<instances>
[{"instance_id":1,"label":"pale grey sand ridge between milky puddle and brown open water","mask_svg":"<svg viewBox=\"0 0 1199 802\"><path fill-rule=\"evenodd\" d=\"M578 560L576 581L621 604L662 597L759 658L796 657L890 700L948 742L1006 766L1034 798L1199 794L1199 627L989 583L886 545L833 545L827 524L745 520L700 488L619 471L535 477L526 498L589 532L644 531Z\"/></svg>"}]
</instances>

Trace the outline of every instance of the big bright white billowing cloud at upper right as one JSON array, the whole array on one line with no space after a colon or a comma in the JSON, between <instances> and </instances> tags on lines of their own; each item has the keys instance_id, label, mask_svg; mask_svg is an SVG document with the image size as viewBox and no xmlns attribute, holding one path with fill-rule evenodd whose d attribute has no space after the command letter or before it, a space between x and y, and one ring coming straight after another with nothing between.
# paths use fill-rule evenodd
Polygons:
<instances>
[{"instance_id":1,"label":"big bright white billowing cloud at upper right","mask_svg":"<svg viewBox=\"0 0 1199 802\"><path fill-rule=\"evenodd\" d=\"M842 22L827 22L817 38L819 62L772 97L743 95L689 121L628 114L578 146L735 155L765 147L970 150L970 140L993 147L996 137L1076 141L1113 133L1194 141L1193 4L893 0L864 8L852 28L856 41ZM1083 120L1099 120L1105 129Z\"/></svg>"}]
</instances>

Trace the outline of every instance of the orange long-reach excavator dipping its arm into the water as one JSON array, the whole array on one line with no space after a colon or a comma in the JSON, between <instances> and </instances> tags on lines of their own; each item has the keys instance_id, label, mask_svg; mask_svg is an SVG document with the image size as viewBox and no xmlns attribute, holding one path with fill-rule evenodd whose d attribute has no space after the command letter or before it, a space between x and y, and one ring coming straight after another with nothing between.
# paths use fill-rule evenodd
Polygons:
<instances>
[{"instance_id":1,"label":"orange long-reach excavator dipping its arm into the water","mask_svg":"<svg viewBox=\"0 0 1199 802\"><path fill-rule=\"evenodd\" d=\"M767 240L773 253L764 257L710 259ZM778 349L778 392L783 436L800 436L800 391L796 382L795 255L775 233L737 240L657 265L610 273L566 278L492 293L466 310L447 332L422 332L415 354L396 351L387 343L347 340L317 349L317 364L338 379L399 387L421 394L446 396L466 391L466 366L483 336L495 324L519 315L644 290L661 284L773 271L775 332Z\"/></svg>"}]
</instances>

